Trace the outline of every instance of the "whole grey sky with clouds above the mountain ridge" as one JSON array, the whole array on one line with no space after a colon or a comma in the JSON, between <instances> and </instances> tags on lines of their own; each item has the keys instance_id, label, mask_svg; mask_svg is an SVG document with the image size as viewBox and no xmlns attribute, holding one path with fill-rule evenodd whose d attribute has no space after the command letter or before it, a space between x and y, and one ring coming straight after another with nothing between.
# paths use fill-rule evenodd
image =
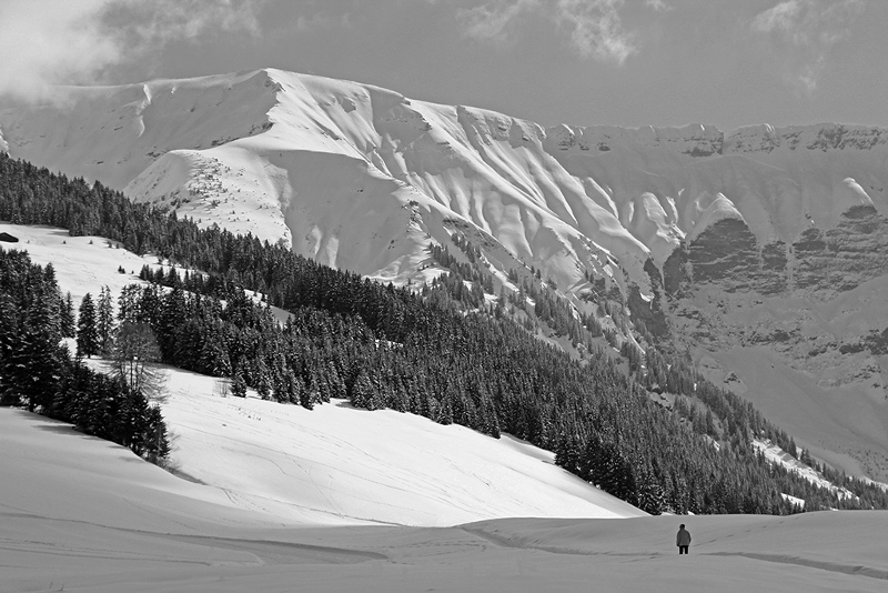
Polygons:
<instances>
[{"instance_id":1,"label":"whole grey sky with clouds above the mountain ridge","mask_svg":"<svg viewBox=\"0 0 888 593\"><path fill-rule=\"evenodd\" d=\"M543 125L888 127L884 0L0 0L0 94L280 68Z\"/></svg>"}]
</instances>

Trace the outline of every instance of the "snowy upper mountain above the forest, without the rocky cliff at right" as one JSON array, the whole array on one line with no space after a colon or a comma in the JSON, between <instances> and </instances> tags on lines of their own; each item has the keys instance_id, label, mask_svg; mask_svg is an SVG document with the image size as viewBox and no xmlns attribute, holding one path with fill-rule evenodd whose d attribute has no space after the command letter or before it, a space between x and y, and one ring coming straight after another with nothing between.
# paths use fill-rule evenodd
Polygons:
<instances>
[{"instance_id":1,"label":"snowy upper mountain above the forest, without the rocky cliff at right","mask_svg":"<svg viewBox=\"0 0 888 593\"><path fill-rule=\"evenodd\" d=\"M763 242L791 243L855 204L888 210L885 174L871 170L888 140L879 128L544 129L273 68L65 92L64 107L2 110L13 157L400 282L427 277L448 221L490 237L504 267L572 290L593 275L647 293L648 258L662 267L726 212ZM848 150L869 155L804 173Z\"/></svg>"}]
</instances>

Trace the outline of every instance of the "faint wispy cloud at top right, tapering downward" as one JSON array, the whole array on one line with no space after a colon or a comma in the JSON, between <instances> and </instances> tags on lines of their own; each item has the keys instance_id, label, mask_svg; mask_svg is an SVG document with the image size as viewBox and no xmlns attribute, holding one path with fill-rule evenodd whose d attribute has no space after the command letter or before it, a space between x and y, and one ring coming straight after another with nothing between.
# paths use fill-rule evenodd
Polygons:
<instances>
[{"instance_id":1,"label":"faint wispy cloud at top right, tapering downward","mask_svg":"<svg viewBox=\"0 0 888 593\"><path fill-rule=\"evenodd\" d=\"M751 30L770 37L784 56L784 78L796 92L810 97L833 47L850 37L864 7L864 0L785 0L758 13Z\"/></svg>"}]
</instances>

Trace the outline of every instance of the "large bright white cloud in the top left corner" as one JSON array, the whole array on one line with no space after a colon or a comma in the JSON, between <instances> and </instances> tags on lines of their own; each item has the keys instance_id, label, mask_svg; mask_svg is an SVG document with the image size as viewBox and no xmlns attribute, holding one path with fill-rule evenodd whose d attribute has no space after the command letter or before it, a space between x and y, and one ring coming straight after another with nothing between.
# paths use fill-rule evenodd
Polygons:
<instances>
[{"instance_id":1,"label":"large bright white cloud in the top left corner","mask_svg":"<svg viewBox=\"0 0 888 593\"><path fill-rule=\"evenodd\" d=\"M38 98L53 84L94 83L171 41L259 32L254 0L3 0L0 96Z\"/></svg>"}]
</instances>

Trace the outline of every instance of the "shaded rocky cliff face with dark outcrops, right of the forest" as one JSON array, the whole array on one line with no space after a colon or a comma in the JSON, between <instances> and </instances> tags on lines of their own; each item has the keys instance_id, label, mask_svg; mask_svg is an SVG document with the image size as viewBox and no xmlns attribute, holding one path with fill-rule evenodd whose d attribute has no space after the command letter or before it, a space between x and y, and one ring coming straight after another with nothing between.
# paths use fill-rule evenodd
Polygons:
<instances>
[{"instance_id":1,"label":"shaded rocky cliff face with dark outcrops, right of the forest","mask_svg":"<svg viewBox=\"0 0 888 593\"><path fill-rule=\"evenodd\" d=\"M707 362L710 379L804 434L806 446L888 476L888 451L872 444L888 434L888 218L852 207L790 244L761 243L725 219L676 249L664 285L672 338ZM803 393L776 405L779 383L759 373L797 373ZM794 405L826 405L839 428L816 430Z\"/></svg>"}]
</instances>

